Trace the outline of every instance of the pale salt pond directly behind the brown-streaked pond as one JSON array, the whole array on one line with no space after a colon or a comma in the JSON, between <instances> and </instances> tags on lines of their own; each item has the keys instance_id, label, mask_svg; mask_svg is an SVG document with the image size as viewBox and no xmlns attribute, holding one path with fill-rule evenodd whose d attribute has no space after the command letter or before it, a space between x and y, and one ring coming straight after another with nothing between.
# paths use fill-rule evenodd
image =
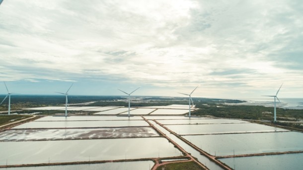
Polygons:
<instances>
[{"instance_id":1,"label":"pale salt pond directly behind the brown-streaked pond","mask_svg":"<svg viewBox=\"0 0 303 170\"><path fill-rule=\"evenodd\" d=\"M33 121L13 127L12 129L28 128L77 128L77 127L126 127L149 126L144 120L116 120L116 121Z\"/></svg>"}]
</instances>

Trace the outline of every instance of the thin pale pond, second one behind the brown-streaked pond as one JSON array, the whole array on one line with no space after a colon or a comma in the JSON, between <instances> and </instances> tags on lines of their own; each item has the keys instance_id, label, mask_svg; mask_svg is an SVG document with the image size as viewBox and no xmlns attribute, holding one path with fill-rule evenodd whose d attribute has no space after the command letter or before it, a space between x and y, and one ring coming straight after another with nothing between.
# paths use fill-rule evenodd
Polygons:
<instances>
[{"instance_id":1,"label":"thin pale pond, second one behind the brown-streaked pond","mask_svg":"<svg viewBox=\"0 0 303 170\"><path fill-rule=\"evenodd\" d=\"M35 121L143 120L140 116L46 116Z\"/></svg>"}]
</instances>

